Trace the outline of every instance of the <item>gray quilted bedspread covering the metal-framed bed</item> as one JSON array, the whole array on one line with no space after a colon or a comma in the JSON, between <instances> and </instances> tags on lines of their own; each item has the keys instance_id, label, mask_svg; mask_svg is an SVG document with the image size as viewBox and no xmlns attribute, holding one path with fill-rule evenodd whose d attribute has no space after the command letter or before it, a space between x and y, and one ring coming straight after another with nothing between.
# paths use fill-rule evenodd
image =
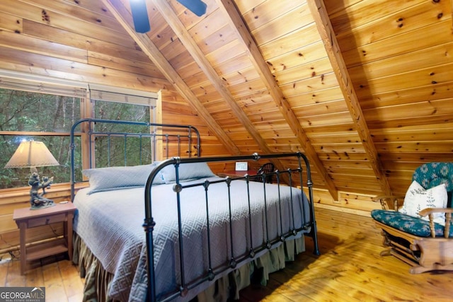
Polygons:
<instances>
[{"instance_id":1,"label":"gray quilted bedspread covering the metal-framed bed","mask_svg":"<svg viewBox=\"0 0 453 302\"><path fill-rule=\"evenodd\" d=\"M218 180L220 178L209 178ZM200 182L193 181L193 182ZM188 185L193 182L183 182ZM178 249L178 211L173 185L155 185L152 188L152 214L154 228L154 266L156 292L160 297L178 288L180 284L180 252ZM258 247L280 236L283 232L309 222L309 204L301 190L277 185L250 182L251 225L248 223L248 194L245 181L211 184L208 205L203 187L184 188L181 196L181 217L184 243L184 279L192 281L205 274L208 267L207 217L209 207L210 246L212 267L228 265L231 259L229 233L229 202L231 196L234 257L248 254L251 246ZM76 194L74 204L78 211L74 217L74 231L81 236L88 248L101 261L105 270L115 275L108 295L120 301L144 301L147 291L146 246L144 221L144 188L113 190L87 194L89 188ZM290 192L292 206L290 205ZM278 197L280 194L280 203ZM266 202L264 202L264 200ZM266 203L266 211L263 204ZM294 207L294 214L289 207ZM278 209L282 209L281 213ZM303 214L301 214L303 213ZM267 216L268 224L265 223ZM306 230L307 232L309 229ZM298 236L302 236L300 233ZM278 243L275 245L277 246ZM251 258L248 258L252 260ZM222 274L216 275L220 277ZM197 292L206 289L212 281L189 291L181 301L188 301Z\"/></svg>"}]
</instances>

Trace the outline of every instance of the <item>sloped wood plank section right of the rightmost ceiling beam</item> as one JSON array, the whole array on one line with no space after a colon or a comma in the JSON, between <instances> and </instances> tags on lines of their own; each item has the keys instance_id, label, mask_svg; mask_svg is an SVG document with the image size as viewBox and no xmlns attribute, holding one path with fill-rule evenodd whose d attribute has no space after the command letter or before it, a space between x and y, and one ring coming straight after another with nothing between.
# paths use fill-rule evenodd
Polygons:
<instances>
[{"instance_id":1,"label":"sloped wood plank section right of the rightmost ceiling beam","mask_svg":"<svg viewBox=\"0 0 453 302\"><path fill-rule=\"evenodd\" d=\"M325 1L393 194L453 161L452 1Z\"/></svg>"}]
</instances>

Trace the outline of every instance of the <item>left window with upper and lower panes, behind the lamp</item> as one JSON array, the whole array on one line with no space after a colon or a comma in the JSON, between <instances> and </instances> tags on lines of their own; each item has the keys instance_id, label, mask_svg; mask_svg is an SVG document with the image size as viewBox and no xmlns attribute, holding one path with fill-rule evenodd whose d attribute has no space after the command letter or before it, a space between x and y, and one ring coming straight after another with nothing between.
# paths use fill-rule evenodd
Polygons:
<instances>
[{"instance_id":1,"label":"left window with upper and lower panes, behind the lamp","mask_svg":"<svg viewBox=\"0 0 453 302\"><path fill-rule=\"evenodd\" d=\"M55 182L69 181L69 131L80 118L81 98L0 88L0 168L23 140L42 141L59 166L40 167L40 175L55 175ZM30 169L3 169L0 188L28 186Z\"/></svg>"}]
</instances>

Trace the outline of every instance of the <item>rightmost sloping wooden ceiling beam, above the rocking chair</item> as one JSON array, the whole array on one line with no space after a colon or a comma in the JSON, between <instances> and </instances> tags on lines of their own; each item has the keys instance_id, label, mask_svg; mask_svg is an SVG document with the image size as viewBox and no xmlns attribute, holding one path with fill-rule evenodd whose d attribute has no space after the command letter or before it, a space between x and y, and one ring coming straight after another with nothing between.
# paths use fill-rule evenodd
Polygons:
<instances>
[{"instance_id":1,"label":"rightmost sloping wooden ceiling beam, above the rocking chair","mask_svg":"<svg viewBox=\"0 0 453 302\"><path fill-rule=\"evenodd\" d=\"M352 86L352 81L341 54L335 32L333 31L332 23L328 17L326 6L322 0L308 0L307 4L309 5L311 15L314 18L316 27L323 40L328 58L332 64L333 71L336 74L338 84L340 85L346 104L348 105L350 115L355 123L365 152L367 153L369 163L371 163L374 175L376 175L382 192L384 192L384 194L391 194L389 181L384 174L382 162L379 159L371 134L369 134L367 122L365 121L355 89Z\"/></svg>"}]
</instances>

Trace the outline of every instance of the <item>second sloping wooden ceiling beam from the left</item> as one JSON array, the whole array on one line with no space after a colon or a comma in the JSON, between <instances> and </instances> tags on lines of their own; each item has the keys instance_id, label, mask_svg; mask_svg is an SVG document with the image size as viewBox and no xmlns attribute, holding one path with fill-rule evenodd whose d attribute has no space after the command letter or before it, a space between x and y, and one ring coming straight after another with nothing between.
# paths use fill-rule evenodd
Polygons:
<instances>
[{"instance_id":1,"label":"second sloping wooden ceiling beam from the left","mask_svg":"<svg viewBox=\"0 0 453 302\"><path fill-rule=\"evenodd\" d=\"M162 0L153 0L154 5L159 10L162 16L164 16L166 22L171 27L173 32L179 38L180 42L183 43L185 49L190 53L195 62L198 64L200 69L203 71L207 79L212 83L217 92L222 96L224 101L231 111L236 116L236 118L243 124L243 127L246 128L251 137L256 141L261 151L264 153L271 153L271 150L268 144L265 143L263 137L253 125L253 123L248 119L246 112L236 103L233 95L224 85L224 81L220 79L219 74L214 70L214 67L206 59L206 55L200 50L200 47L197 45L193 37L190 36L190 33L185 28L183 23L179 20L176 13L173 11L173 8L168 4L167 1Z\"/></svg>"}]
</instances>

